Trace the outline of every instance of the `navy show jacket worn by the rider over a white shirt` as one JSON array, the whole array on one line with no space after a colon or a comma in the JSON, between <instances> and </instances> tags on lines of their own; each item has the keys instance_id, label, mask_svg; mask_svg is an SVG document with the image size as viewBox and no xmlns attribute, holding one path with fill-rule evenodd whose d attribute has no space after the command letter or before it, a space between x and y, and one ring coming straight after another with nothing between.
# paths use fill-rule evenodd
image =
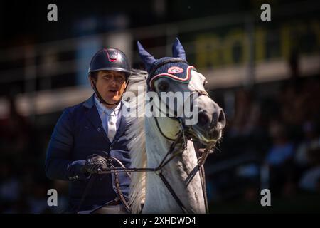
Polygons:
<instances>
[{"instance_id":1,"label":"navy show jacket worn by the rider over a white shirt","mask_svg":"<svg viewBox=\"0 0 320 228\"><path fill-rule=\"evenodd\" d=\"M122 100L122 107L128 108ZM78 105L63 110L55 125L46 155L46 175L52 180L67 180L69 185L69 204L73 210L78 208L90 177L80 169L89 155L116 157L125 167L131 165L125 134L129 128L126 117L122 115L119 129L110 142L102 128L102 121L94 103L94 95ZM119 166L114 164L114 166ZM119 173L120 189L125 197L129 195L130 179ZM87 192L80 211L92 210L117 197L114 190L113 174L96 175L92 187Z\"/></svg>"}]
</instances>

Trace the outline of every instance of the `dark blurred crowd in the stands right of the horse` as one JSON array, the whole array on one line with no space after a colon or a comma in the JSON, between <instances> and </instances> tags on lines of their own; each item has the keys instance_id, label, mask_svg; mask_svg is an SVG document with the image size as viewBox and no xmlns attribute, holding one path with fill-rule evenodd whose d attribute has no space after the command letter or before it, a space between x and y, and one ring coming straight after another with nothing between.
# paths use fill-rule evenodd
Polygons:
<instances>
[{"instance_id":1,"label":"dark blurred crowd in the stands right of the horse","mask_svg":"<svg viewBox=\"0 0 320 228\"><path fill-rule=\"evenodd\" d=\"M292 69L288 80L235 90L234 113L206 164L222 164L209 172L210 199L256 200L264 188L279 198L320 193L320 77Z\"/></svg>"}]
</instances>

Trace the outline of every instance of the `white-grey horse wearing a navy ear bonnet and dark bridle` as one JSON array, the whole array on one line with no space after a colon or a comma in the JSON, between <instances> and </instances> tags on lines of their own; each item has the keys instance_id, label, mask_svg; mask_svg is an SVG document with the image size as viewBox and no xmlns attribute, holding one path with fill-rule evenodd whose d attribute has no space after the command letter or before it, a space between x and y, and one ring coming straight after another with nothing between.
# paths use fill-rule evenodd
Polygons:
<instances>
[{"instance_id":1,"label":"white-grey horse wearing a navy ear bonnet and dark bridle","mask_svg":"<svg viewBox=\"0 0 320 228\"><path fill-rule=\"evenodd\" d=\"M184 100L197 104L198 112L193 115L198 121L187 125L186 116L178 117L177 110L186 104L177 102L171 108L173 116L165 113L128 118L131 125L126 132L130 138L128 148L132 171L137 171L131 173L131 212L206 213L208 202L203 163L222 138L225 127L223 109L204 89L205 76L186 61L186 52L178 38L172 46L173 57L156 59L139 41L137 46L146 71L133 69L129 76L125 94L137 95L136 99L127 99L130 109L145 114L146 105L150 103L154 110L158 109L154 103L157 99L146 99L150 92L158 95L161 104L164 100L160 93L183 92L187 94ZM201 157L197 156L195 142L206 146Z\"/></svg>"}]
</instances>

